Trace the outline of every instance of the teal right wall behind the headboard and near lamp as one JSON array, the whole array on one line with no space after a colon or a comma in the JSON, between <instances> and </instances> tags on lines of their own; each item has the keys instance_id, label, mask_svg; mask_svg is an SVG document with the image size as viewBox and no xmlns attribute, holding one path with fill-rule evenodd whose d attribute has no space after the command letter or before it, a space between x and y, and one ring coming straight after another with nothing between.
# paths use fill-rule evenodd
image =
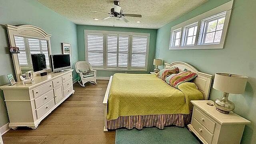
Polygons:
<instances>
[{"instance_id":1,"label":"teal right wall behind the headboard and near lamp","mask_svg":"<svg viewBox=\"0 0 256 144\"><path fill-rule=\"evenodd\" d=\"M256 141L256 1L235 0L224 49L168 50L171 27L220 6L229 0L209 0L157 31L155 57L164 62L183 61L209 74L230 72L249 76L244 94L230 94L236 104L234 112L250 120L242 137L243 144ZM212 89L210 99L220 98L222 92Z\"/></svg>"}]
</instances>

